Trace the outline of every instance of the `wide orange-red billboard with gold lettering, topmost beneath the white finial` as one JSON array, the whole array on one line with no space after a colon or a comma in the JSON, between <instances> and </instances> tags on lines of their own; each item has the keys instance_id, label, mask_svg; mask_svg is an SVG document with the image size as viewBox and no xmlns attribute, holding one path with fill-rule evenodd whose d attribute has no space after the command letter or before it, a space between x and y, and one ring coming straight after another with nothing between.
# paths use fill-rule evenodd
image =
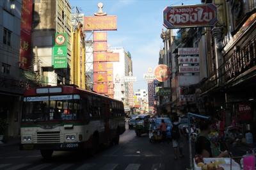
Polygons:
<instances>
[{"instance_id":1,"label":"wide orange-red billboard with gold lettering, topmost beneath the white finial","mask_svg":"<svg viewBox=\"0 0 256 170\"><path fill-rule=\"evenodd\" d=\"M83 31L109 31L117 29L117 17L108 16L88 16L84 17Z\"/></svg>"}]
</instances>

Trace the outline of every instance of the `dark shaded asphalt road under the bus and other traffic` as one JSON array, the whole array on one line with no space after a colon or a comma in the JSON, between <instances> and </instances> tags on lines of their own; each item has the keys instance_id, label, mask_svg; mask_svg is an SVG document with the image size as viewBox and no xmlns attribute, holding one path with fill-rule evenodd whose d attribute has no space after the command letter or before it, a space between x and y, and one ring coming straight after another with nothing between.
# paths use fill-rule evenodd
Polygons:
<instances>
[{"instance_id":1,"label":"dark shaded asphalt road under the bus and other traffic","mask_svg":"<svg viewBox=\"0 0 256 170\"><path fill-rule=\"evenodd\" d=\"M56 151L52 160L46 161L39 151L20 151L19 146L0 147L0 169L8 170L184 170L188 164L188 153L185 158L174 160L171 144L151 144L147 135L136 137L133 130L127 130L120 137L118 146L111 146L93 157Z\"/></svg>"}]
</instances>

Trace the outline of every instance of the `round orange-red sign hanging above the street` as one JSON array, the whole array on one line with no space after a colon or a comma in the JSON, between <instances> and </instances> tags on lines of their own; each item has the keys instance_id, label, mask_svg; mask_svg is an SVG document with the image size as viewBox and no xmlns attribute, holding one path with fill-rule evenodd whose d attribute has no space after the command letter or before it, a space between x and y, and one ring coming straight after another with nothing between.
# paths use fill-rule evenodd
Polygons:
<instances>
[{"instance_id":1,"label":"round orange-red sign hanging above the street","mask_svg":"<svg viewBox=\"0 0 256 170\"><path fill-rule=\"evenodd\" d=\"M158 65L154 70L154 75L159 82L167 81L171 75L170 68L166 65Z\"/></svg>"}]
</instances>

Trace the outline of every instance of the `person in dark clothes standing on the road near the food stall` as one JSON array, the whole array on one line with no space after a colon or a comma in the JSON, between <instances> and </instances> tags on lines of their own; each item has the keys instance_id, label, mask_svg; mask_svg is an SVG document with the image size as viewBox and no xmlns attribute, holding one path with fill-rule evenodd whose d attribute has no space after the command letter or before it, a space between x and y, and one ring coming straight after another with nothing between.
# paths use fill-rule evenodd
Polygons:
<instances>
[{"instance_id":1,"label":"person in dark clothes standing on the road near the food stall","mask_svg":"<svg viewBox=\"0 0 256 170\"><path fill-rule=\"evenodd\" d=\"M173 127L172 127L172 146L174 150L174 158L184 157L182 148L183 148L183 134L180 132L179 128L179 117L175 116L173 118Z\"/></svg>"}]
</instances>

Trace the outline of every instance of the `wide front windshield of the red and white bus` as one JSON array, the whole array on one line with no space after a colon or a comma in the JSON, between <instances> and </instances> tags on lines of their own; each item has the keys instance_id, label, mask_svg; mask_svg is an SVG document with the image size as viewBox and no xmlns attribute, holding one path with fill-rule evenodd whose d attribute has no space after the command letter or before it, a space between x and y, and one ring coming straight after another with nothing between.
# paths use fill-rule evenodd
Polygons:
<instances>
[{"instance_id":1,"label":"wide front windshield of the red and white bus","mask_svg":"<svg viewBox=\"0 0 256 170\"><path fill-rule=\"evenodd\" d=\"M79 100L43 100L24 102L23 122L78 120Z\"/></svg>"}]
</instances>

